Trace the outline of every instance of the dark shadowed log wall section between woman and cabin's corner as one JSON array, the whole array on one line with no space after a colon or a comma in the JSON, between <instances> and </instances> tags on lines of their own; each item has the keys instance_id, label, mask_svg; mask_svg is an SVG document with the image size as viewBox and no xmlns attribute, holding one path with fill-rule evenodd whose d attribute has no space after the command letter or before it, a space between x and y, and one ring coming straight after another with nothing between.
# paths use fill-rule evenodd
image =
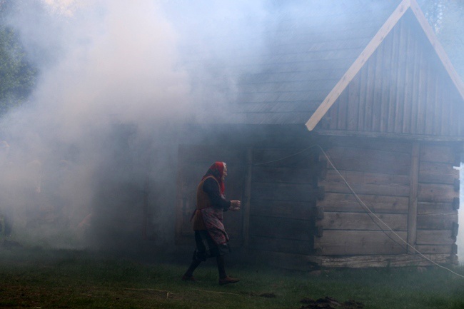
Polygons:
<instances>
[{"instance_id":1,"label":"dark shadowed log wall section between woman and cabin's corner","mask_svg":"<svg viewBox=\"0 0 464 309\"><path fill-rule=\"evenodd\" d=\"M292 156L301 150L252 150L249 248L306 255L313 253L318 196L317 157L315 149Z\"/></svg>"}]
</instances>

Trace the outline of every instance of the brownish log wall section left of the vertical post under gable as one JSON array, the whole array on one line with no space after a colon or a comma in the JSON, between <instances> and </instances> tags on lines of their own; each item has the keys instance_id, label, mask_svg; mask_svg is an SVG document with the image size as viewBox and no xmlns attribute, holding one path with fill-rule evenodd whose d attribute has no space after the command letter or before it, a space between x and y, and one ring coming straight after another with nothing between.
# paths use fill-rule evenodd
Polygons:
<instances>
[{"instance_id":1,"label":"brownish log wall section left of the vertical post under gable","mask_svg":"<svg viewBox=\"0 0 464 309\"><path fill-rule=\"evenodd\" d=\"M403 239L408 234L411 147L408 142L344 138L334 140L326 152L365 205ZM406 253L393 233L381 231L387 228L360 206L330 164L319 186L325 189L325 198L317 203L324 211L316 223L323 227L315 240L319 254Z\"/></svg>"}]
</instances>

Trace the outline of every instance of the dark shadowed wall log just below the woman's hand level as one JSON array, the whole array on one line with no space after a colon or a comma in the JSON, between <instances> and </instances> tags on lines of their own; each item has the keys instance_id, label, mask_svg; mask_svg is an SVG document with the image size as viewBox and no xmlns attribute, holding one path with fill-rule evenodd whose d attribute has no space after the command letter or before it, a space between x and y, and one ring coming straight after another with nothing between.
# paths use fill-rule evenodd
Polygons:
<instances>
[{"instance_id":1,"label":"dark shadowed wall log just below the woman's hand level","mask_svg":"<svg viewBox=\"0 0 464 309\"><path fill-rule=\"evenodd\" d=\"M250 216L250 236L312 241L314 223L306 220Z\"/></svg>"}]
</instances>

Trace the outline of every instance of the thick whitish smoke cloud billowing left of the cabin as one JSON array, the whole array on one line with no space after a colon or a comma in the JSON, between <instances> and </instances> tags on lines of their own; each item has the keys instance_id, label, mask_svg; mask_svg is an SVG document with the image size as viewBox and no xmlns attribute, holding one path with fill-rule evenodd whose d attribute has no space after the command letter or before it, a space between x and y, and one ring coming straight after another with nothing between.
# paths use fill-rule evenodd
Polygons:
<instances>
[{"instance_id":1,"label":"thick whitish smoke cloud billowing left of the cabin","mask_svg":"<svg viewBox=\"0 0 464 309\"><path fill-rule=\"evenodd\" d=\"M159 131L191 108L176 34L155 1L57 5L11 16L41 74L30 102L1 120L2 211L24 242L141 238L150 156L170 138Z\"/></svg>"}]
</instances>

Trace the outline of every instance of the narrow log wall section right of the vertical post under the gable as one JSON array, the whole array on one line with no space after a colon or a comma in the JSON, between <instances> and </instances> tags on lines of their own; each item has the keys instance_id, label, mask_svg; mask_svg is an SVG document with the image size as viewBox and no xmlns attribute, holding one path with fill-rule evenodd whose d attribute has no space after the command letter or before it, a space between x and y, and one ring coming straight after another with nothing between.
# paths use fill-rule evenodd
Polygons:
<instances>
[{"instance_id":1,"label":"narrow log wall section right of the vertical post under the gable","mask_svg":"<svg viewBox=\"0 0 464 309\"><path fill-rule=\"evenodd\" d=\"M417 249L455 255L459 207L458 148L433 143L420 146Z\"/></svg>"}]
</instances>

